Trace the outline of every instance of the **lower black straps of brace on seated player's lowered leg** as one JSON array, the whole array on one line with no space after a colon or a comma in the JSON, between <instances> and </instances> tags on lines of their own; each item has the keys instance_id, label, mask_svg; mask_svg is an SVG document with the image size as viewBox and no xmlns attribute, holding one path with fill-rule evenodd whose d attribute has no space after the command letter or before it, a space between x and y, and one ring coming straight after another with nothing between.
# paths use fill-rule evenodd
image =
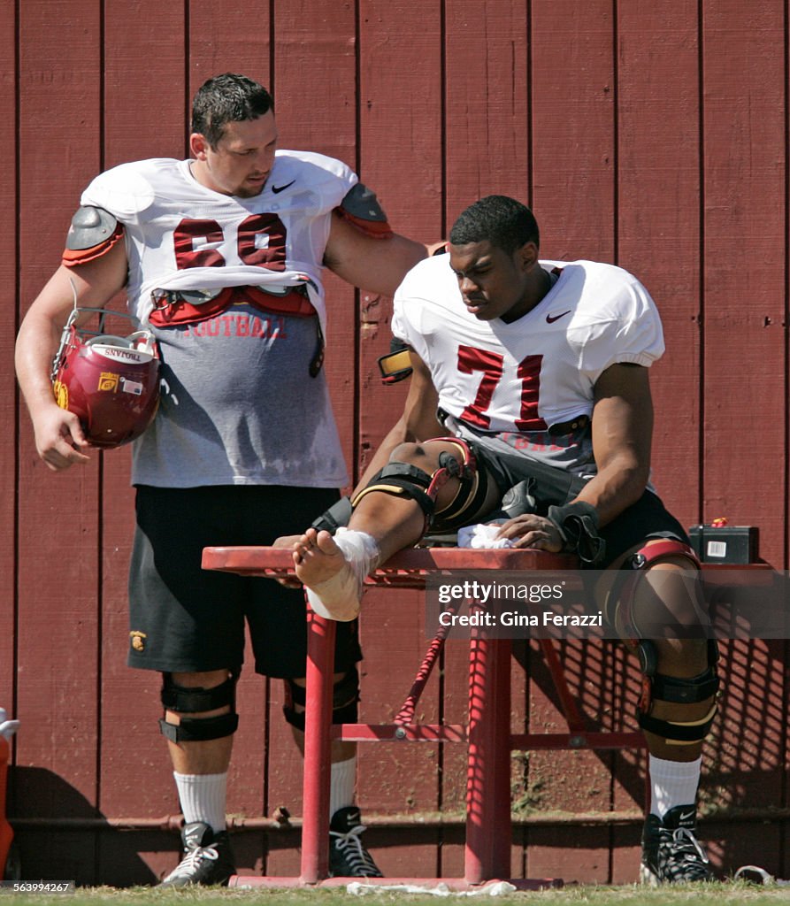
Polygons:
<instances>
[{"instance_id":1,"label":"lower black straps of brace on seated player's lowered leg","mask_svg":"<svg viewBox=\"0 0 790 906\"><path fill-rule=\"evenodd\" d=\"M663 737L670 746L691 746L701 742L708 736L718 710L715 699L719 687L716 670L717 641L708 639L708 669L698 673L696 677L668 677L658 673L655 645L649 640L638 642L637 653L642 670L642 691L637 708L637 721L640 727L655 736ZM691 705L710 698L714 700L708 713L697 720L661 720L650 714L652 703L657 699L676 705Z\"/></svg>"}]
</instances>

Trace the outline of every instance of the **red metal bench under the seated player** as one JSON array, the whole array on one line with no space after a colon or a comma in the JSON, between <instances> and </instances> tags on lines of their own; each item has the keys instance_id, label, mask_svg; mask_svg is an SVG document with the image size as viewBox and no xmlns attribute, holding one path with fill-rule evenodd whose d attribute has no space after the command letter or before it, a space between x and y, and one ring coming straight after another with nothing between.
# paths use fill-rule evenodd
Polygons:
<instances>
[{"instance_id":1,"label":"red metal bench under the seated player","mask_svg":"<svg viewBox=\"0 0 790 906\"><path fill-rule=\"evenodd\" d=\"M384 588L424 588L430 573L446 570L557 570L572 569L572 558L536 550L476 550L457 547L414 548L401 551L377 569L368 583ZM252 576L284 578L294 575L291 552L272 547L207 547L205 569ZM393 879L383 882L444 882L466 889L494 879L506 879L510 865L510 753L513 749L641 748L641 732L590 732L568 688L555 642L536 640L564 711L567 731L559 733L510 732L509 639L469 641L469 693L466 725L414 722L419 695L438 660L443 638L429 646L425 660L397 717L390 724L342 724L332 727L332 651L335 623L309 614L307 655L307 709L303 785L302 863L298 878L239 877L236 886L295 886L347 883L327 880L329 841L329 776L332 739L357 742L466 742L467 823L463 878ZM377 882L370 879L371 882ZM521 889L557 882L509 879ZM379 881L381 883L381 881Z\"/></svg>"}]
</instances>

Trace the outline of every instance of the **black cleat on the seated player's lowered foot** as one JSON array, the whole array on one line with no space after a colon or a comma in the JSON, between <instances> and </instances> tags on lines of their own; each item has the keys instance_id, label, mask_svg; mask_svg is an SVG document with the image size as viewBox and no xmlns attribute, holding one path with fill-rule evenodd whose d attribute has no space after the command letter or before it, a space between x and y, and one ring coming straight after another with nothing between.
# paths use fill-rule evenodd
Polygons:
<instances>
[{"instance_id":1,"label":"black cleat on the seated player's lowered foot","mask_svg":"<svg viewBox=\"0 0 790 906\"><path fill-rule=\"evenodd\" d=\"M676 805L663 819L649 814L642 831L643 884L712 881L708 856L697 839L697 809Z\"/></svg>"}]
</instances>

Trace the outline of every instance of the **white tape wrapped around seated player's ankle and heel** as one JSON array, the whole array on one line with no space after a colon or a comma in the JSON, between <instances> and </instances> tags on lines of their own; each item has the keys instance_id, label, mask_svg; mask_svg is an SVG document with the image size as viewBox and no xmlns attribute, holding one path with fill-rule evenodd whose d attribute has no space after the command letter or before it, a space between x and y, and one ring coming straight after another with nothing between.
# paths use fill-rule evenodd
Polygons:
<instances>
[{"instance_id":1,"label":"white tape wrapped around seated player's ankle and heel","mask_svg":"<svg viewBox=\"0 0 790 906\"><path fill-rule=\"evenodd\" d=\"M349 622L360 612L362 583L379 563L379 545L372 535L353 528L339 528L334 543L345 565L331 579L307 589L307 600L319 616Z\"/></svg>"}]
</instances>

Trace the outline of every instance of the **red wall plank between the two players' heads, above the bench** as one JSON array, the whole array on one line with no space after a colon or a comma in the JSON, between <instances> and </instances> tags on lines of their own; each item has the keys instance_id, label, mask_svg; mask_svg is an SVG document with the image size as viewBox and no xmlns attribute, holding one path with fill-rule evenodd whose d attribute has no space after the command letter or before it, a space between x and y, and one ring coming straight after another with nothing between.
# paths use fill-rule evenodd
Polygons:
<instances>
[{"instance_id":1,"label":"red wall plank between the two players' heads, above the bench","mask_svg":"<svg viewBox=\"0 0 790 906\"><path fill-rule=\"evenodd\" d=\"M439 5L398 0L361 12L360 176L396 232L436 242L444 226ZM400 416L408 387L381 384L377 360L390 351L390 317L390 299L361 293L360 472Z\"/></svg>"}]
</instances>

